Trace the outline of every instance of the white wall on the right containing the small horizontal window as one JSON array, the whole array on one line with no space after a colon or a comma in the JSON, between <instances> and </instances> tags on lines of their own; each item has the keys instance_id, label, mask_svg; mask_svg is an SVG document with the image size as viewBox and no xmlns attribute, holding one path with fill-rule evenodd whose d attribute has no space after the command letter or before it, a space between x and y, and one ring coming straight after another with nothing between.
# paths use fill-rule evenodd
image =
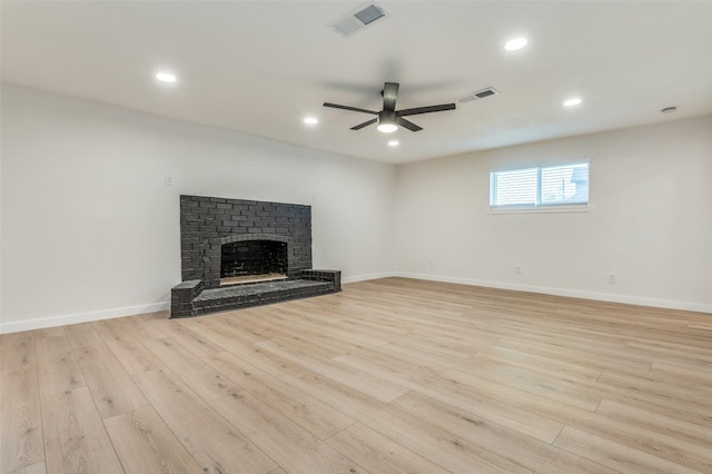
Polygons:
<instances>
[{"instance_id":1,"label":"white wall on the right containing the small horizontal window","mask_svg":"<svg viewBox=\"0 0 712 474\"><path fill-rule=\"evenodd\" d=\"M488 213L491 170L576 159L591 211ZM404 276L712 313L712 117L399 166L395 216Z\"/></svg>"}]
</instances>

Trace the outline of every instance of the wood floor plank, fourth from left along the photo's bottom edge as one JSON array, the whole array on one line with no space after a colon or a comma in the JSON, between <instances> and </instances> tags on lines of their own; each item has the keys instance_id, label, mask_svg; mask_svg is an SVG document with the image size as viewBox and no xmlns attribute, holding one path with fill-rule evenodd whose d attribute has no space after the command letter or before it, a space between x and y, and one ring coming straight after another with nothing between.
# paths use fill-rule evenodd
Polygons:
<instances>
[{"instance_id":1,"label":"wood floor plank, fourth from left along the photo's bottom edge","mask_svg":"<svg viewBox=\"0 0 712 474\"><path fill-rule=\"evenodd\" d=\"M206 473L266 473L271 461L167 369L134 376L151 405Z\"/></svg>"}]
</instances>

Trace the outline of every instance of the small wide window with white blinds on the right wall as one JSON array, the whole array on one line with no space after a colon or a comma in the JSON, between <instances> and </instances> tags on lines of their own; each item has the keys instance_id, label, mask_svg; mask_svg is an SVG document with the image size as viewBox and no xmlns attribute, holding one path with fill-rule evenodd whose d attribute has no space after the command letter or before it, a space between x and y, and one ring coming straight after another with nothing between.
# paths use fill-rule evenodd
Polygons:
<instances>
[{"instance_id":1,"label":"small wide window with white blinds on the right wall","mask_svg":"<svg viewBox=\"0 0 712 474\"><path fill-rule=\"evenodd\" d=\"M492 171L491 209L589 205L589 161Z\"/></svg>"}]
</instances>

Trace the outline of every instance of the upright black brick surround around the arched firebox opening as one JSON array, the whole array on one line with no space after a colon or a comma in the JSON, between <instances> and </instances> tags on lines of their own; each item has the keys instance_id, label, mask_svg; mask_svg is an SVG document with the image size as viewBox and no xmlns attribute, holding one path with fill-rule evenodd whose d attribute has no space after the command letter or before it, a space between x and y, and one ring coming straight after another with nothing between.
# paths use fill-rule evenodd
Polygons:
<instances>
[{"instance_id":1,"label":"upright black brick surround around the arched firebox opening","mask_svg":"<svg viewBox=\"0 0 712 474\"><path fill-rule=\"evenodd\" d=\"M287 244L287 277L312 268L312 207L202 196L180 196L181 279L220 286L224 244L274 240Z\"/></svg>"}]
</instances>

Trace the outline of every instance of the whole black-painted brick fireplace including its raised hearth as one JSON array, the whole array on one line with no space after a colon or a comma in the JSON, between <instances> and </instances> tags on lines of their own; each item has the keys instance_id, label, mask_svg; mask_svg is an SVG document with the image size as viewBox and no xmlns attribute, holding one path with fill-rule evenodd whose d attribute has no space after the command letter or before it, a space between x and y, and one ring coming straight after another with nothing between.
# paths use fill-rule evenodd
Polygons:
<instances>
[{"instance_id":1,"label":"whole black-painted brick fireplace including its raised hearth","mask_svg":"<svg viewBox=\"0 0 712 474\"><path fill-rule=\"evenodd\" d=\"M171 317L340 290L340 271L312 269L305 205L180 196L180 261Z\"/></svg>"}]
</instances>

